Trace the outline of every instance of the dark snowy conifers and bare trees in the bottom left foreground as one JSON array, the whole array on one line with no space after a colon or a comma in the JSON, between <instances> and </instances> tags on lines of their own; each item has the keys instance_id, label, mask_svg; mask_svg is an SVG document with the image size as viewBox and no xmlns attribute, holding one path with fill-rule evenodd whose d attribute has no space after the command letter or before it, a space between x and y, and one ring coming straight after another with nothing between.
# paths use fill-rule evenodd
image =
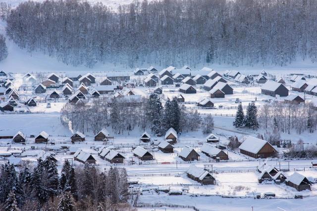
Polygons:
<instances>
[{"instance_id":1,"label":"dark snowy conifers and bare trees in the bottom left foreground","mask_svg":"<svg viewBox=\"0 0 317 211\"><path fill-rule=\"evenodd\" d=\"M48 157L19 172L7 163L0 169L0 210L112 211L130 210L127 173L110 168L101 172L86 164L73 168L65 160L61 174Z\"/></svg>"}]
</instances>

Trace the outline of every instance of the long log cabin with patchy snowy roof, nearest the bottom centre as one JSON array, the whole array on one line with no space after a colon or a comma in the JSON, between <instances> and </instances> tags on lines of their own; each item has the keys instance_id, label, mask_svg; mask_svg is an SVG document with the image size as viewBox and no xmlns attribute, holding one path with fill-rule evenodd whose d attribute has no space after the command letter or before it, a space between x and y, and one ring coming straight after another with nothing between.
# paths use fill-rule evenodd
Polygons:
<instances>
[{"instance_id":1,"label":"long log cabin with patchy snowy roof, nearest the bottom centre","mask_svg":"<svg viewBox=\"0 0 317 211\"><path fill-rule=\"evenodd\" d=\"M191 165L186 171L187 176L197 182L202 183L203 185L214 185L215 178L211 175L210 172L204 169L200 169L195 165Z\"/></svg>"}]
</instances>

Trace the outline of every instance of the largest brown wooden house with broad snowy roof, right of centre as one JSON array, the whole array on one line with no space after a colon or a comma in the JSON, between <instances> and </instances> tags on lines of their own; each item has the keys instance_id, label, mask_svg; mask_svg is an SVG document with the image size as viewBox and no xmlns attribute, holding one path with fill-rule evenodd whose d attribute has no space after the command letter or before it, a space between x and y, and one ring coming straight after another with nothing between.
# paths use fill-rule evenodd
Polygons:
<instances>
[{"instance_id":1,"label":"largest brown wooden house with broad snowy roof, right of centre","mask_svg":"<svg viewBox=\"0 0 317 211\"><path fill-rule=\"evenodd\" d=\"M239 149L240 153L253 158L274 157L277 153L270 143L253 136L247 136Z\"/></svg>"}]
</instances>

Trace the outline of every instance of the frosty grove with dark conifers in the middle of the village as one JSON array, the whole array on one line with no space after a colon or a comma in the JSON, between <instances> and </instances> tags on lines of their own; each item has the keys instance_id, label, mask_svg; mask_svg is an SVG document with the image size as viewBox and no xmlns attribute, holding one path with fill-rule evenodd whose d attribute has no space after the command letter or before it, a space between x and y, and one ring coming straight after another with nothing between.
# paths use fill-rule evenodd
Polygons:
<instances>
[{"instance_id":1,"label":"frosty grove with dark conifers in the middle of the village","mask_svg":"<svg viewBox=\"0 0 317 211\"><path fill-rule=\"evenodd\" d=\"M209 133L213 129L211 116L202 118L197 111L179 106L175 97L167 99L163 106L156 93L141 100L122 97L94 99L85 104L66 103L61 111L61 122L70 129L94 134L105 127L111 127L118 134L129 134L136 127L161 134L170 127L177 132L202 128Z\"/></svg>"}]
</instances>

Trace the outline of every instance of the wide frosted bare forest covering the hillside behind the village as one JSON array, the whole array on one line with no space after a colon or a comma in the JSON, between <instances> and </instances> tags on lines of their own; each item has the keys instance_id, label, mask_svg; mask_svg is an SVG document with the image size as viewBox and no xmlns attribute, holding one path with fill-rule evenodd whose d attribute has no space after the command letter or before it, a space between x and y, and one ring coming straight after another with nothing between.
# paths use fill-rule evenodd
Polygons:
<instances>
[{"instance_id":1,"label":"wide frosted bare forest covering the hillside behind the village","mask_svg":"<svg viewBox=\"0 0 317 211\"><path fill-rule=\"evenodd\" d=\"M316 8L316 0L144 0L117 11L86 1L27 1L7 15L6 32L21 48L74 66L284 66L317 61Z\"/></svg>"}]
</instances>

